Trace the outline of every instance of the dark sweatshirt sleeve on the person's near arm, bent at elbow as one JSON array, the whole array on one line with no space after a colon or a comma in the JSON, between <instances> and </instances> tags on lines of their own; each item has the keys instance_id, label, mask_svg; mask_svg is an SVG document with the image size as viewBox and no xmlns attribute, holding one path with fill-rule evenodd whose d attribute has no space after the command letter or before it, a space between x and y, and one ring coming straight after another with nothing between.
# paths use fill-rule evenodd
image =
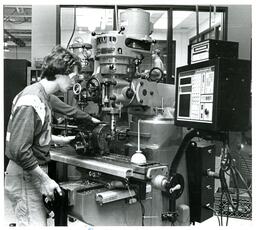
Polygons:
<instances>
[{"instance_id":1,"label":"dark sweatshirt sleeve on the person's near arm, bent at elbow","mask_svg":"<svg viewBox=\"0 0 256 230\"><path fill-rule=\"evenodd\" d=\"M13 116L9 131L9 158L24 170L32 170L38 165L32 146L40 118L32 106L18 107Z\"/></svg>"}]
</instances>

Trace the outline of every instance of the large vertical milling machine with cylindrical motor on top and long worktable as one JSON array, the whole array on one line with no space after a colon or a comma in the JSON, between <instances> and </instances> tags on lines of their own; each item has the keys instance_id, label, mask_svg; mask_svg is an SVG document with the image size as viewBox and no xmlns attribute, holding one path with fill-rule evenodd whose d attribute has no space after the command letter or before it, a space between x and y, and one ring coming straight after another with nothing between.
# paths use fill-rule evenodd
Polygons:
<instances>
[{"instance_id":1,"label":"large vertical milling machine with cylindrical motor on top and long worktable","mask_svg":"<svg viewBox=\"0 0 256 230\"><path fill-rule=\"evenodd\" d=\"M188 225L185 159L169 173L182 138L174 126L174 86L157 82L160 69L140 71L154 42L149 13L128 9L120 21L119 31L94 33L92 49L72 46L90 50L94 60L92 76L77 78L74 97L81 109L96 104L103 122L66 125L76 139L51 149L51 172L58 174L52 177L67 194L64 218L55 224L70 215L91 225Z\"/></svg>"}]
</instances>

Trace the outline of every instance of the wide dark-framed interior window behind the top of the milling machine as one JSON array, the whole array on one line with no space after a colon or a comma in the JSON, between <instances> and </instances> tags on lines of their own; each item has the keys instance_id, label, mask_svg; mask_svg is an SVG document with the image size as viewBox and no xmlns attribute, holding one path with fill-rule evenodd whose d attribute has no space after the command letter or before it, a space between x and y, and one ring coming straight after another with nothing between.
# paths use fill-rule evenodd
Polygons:
<instances>
[{"instance_id":1,"label":"wide dark-framed interior window behind the top of the milling machine","mask_svg":"<svg viewBox=\"0 0 256 230\"><path fill-rule=\"evenodd\" d=\"M74 19L76 23L71 43L74 41L91 43L91 32L104 33L116 29L114 17L120 20L120 14L128 8L131 6L118 5L116 8L113 5L76 8L60 6L60 44L63 46L68 44L74 29ZM160 50L168 83L174 84L177 67L187 65L187 49L190 43L208 38L226 39L227 8L225 7L199 6L198 15L196 6L137 5L136 8L150 13L151 38L156 40L151 50ZM141 71L148 70L151 66L151 54L147 54L141 65Z\"/></svg>"}]
</instances>

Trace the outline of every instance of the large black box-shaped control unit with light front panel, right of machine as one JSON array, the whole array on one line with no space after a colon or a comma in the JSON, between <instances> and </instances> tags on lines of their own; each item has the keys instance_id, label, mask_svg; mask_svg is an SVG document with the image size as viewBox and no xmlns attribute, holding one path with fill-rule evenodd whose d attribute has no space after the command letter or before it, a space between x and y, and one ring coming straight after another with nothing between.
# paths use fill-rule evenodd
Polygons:
<instances>
[{"instance_id":1,"label":"large black box-shaped control unit with light front panel, right of machine","mask_svg":"<svg viewBox=\"0 0 256 230\"><path fill-rule=\"evenodd\" d=\"M248 60L216 58L179 67L175 125L212 131L246 130L250 82Z\"/></svg>"}]
</instances>

